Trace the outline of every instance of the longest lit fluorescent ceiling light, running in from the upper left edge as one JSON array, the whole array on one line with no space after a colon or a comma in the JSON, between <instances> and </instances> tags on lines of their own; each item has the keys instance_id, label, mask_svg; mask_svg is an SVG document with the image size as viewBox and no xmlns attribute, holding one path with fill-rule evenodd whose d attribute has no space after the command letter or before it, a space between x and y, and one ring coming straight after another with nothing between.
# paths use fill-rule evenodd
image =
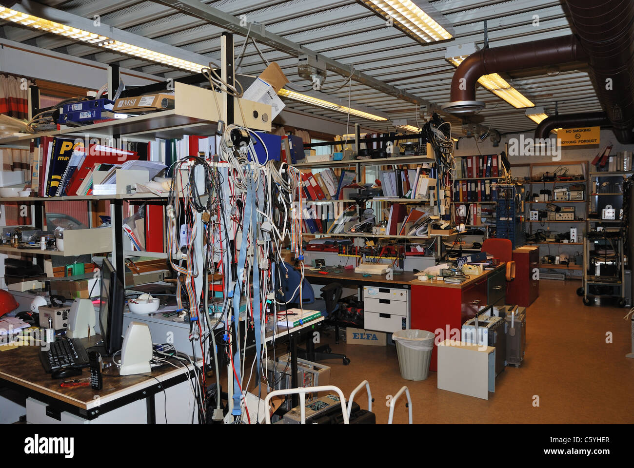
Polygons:
<instances>
[{"instance_id":1,"label":"longest lit fluorescent ceiling light, running in from the upper left edge","mask_svg":"<svg viewBox=\"0 0 634 468\"><path fill-rule=\"evenodd\" d=\"M201 65L200 63L190 62L189 60L183 60L182 58L134 46L133 44L127 44L127 42L117 41L107 36L101 36L101 34L96 34L94 32L68 26L55 21L45 20L44 18L39 18L39 16L29 15L28 13L23 13L22 11L11 10L10 8L4 8L1 6L0 19L11 21L30 28L51 32L52 34L68 37L69 39L88 42L89 44L111 49L133 57L150 60L151 62L162 63L164 65L169 65L170 67L189 70L190 72L198 73L202 70L202 68L209 66L208 64Z\"/></svg>"}]
</instances>

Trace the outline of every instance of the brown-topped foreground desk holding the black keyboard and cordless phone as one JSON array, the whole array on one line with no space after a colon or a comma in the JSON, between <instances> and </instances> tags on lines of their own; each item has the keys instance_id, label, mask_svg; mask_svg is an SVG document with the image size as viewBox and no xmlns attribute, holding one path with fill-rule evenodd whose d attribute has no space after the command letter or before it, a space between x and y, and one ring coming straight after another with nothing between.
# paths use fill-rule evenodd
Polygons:
<instances>
[{"instance_id":1,"label":"brown-topped foreground desk holding the black keyboard and cordless phone","mask_svg":"<svg viewBox=\"0 0 634 468\"><path fill-rule=\"evenodd\" d=\"M89 348L100 339L99 335L95 335L82 339L82 343ZM165 365L147 374L158 379L160 384L146 375L119 377L117 368L110 367L104 370L103 389L99 391L91 387L61 388L60 382L64 379L51 379L51 375L44 372L38 353L39 346L21 346L0 352L0 386L27 397L27 422L164 422L164 389L167 394L167 422L191 422L196 404L183 367ZM86 368L81 376L68 380L89 375L90 370Z\"/></svg>"}]
</instances>

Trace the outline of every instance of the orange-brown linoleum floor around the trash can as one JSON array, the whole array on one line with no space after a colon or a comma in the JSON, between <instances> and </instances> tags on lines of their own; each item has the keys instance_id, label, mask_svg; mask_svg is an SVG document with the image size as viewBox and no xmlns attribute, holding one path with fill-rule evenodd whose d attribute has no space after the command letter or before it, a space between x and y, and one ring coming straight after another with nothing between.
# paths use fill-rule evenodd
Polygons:
<instances>
[{"instance_id":1,"label":"orange-brown linoleum floor around the trash can","mask_svg":"<svg viewBox=\"0 0 634 468\"><path fill-rule=\"evenodd\" d=\"M410 389L415 423L634 423L631 395L634 359L631 323L623 320L627 309L584 306L576 289L581 282L542 280L540 297L527 310L527 347L519 368L506 367L495 382L495 393L481 400L436 388L436 373L413 382L399 374L393 346L333 344L333 352L346 353L349 366L340 360L324 361L332 367L330 383L349 396L361 380L368 380L375 398L373 412L386 423L385 397L403 385ZM612 332L607 344L606 333ZM540 406L533 406L534 395ZM407 422L403 400L394 411L394 423ZM367 407L365 391L355 401Z\"/></svg>"}]
</instances>

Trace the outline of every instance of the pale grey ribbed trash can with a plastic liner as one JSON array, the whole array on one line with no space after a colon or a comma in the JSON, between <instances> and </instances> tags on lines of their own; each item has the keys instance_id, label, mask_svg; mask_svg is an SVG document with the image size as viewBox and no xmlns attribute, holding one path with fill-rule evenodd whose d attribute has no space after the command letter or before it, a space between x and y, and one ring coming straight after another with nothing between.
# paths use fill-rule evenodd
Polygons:
<instances>
[{"instance_id":1,"label":"pale grey ribbed trash can with a plastic liner","mask_svg":"<svg viewBox=\"0 0 634 468\"><path fill-rule=\"evenodd\" d=\"M434 349L434 334L427 330L399 330L392 334L396 341L401 377L406 380L425 380Z\"/></svg>"}]
</instances>

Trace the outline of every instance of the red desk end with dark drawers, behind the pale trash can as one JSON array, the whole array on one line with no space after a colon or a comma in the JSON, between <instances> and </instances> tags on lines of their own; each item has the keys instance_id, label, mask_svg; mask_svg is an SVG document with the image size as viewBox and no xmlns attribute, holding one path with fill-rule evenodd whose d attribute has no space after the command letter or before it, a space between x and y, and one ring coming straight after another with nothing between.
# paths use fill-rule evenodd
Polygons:
<instances>
[{"instance_id":1,"label":"red desk end with dark drawers, behind the pale trash can","mask_svg":"<svg viewBox=\"0 0 634 468\"><path fill-rule=\"evenodd\" d=\"M460 341L462 324L475 316L479 306L488 301L504 304L505 290L496 290L500 275L505 275L506 264L482 275L471 275L460 284L442 281L411 282L411 328L427 330L445 339ZM429 370L437 370L437 347L434 345Z\"/></svg>"}]
</instances>

